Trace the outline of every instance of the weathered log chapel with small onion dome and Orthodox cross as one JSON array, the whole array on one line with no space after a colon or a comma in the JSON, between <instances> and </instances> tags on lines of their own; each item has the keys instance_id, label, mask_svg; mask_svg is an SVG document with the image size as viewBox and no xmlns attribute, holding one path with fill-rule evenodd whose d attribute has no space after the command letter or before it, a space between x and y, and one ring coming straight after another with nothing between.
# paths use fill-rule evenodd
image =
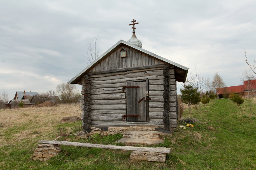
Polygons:
<instances>
[{"instance_id":1,"label":"weathered log chapel with small onion dome and Orthodox cross","mask_svg":"<svg viewBox=\"0 0 256 170\"><path fill-rule=\"evenodd\" d=\"M176 82L189 68L142 49L135 35L118 41L68 83L82 85L83 129L177 125Z\"/></svg>"}]
</instances>

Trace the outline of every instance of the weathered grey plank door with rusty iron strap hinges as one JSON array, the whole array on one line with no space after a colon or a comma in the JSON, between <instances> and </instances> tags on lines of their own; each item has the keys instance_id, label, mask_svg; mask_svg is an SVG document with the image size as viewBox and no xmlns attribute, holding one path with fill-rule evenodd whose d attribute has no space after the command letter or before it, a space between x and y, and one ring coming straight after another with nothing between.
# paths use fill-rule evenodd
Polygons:
<instances>
[{"instance_id":1,"label":"weathered grey plank door with rusty iron strap hinges","mask_svg":"<svg viewBox=\"0 0 256 170\"><path fill-rule=\"evenodd\" d=\"M139 115L138 117L127 116L127 122L147 122L149 121L148 100L148 80L137 80L126 82L126 114Z\"/></svg>"}]
</instances>

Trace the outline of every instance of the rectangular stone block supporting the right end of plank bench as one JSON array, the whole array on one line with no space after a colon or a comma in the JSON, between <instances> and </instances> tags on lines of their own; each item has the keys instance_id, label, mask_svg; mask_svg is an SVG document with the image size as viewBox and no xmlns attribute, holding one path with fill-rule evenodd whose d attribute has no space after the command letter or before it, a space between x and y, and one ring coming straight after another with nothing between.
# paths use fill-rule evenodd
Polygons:
<instances>
[{"instance_id":1,"label":"rectangular stone block supporting the right end of plank bench","mask_svg":"<svg viewBox=\"0 0 256 170\"><path fill-rule=\"evenodd\" d=\"M157 152L133 151L130 154L132 160L147 160L152 162L165 162L166 154Z\"/></svg>"}]
</instances>

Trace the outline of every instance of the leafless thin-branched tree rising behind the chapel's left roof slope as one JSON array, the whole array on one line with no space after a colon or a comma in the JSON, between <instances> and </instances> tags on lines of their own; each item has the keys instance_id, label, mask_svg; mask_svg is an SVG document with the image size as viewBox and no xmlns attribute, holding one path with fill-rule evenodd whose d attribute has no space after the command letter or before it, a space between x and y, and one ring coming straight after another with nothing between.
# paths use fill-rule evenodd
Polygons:
<instances>
[{"instance_id":1,"label":"leafless thin-branched tree rising behind the chapel's left roof slope","mask_svg":"<svg viewBox=\"0 0 256 170\"><path fill-rule=\"evenodd\" d=\"M93 34L94 40L91 40L88 43L87 56L85 57L89 60L90 63L92 63L94 60L98 58L99 50L96 48L96 42L97 42L98 36L99 34L95 38Z\"/></svg>"}]
</instances>

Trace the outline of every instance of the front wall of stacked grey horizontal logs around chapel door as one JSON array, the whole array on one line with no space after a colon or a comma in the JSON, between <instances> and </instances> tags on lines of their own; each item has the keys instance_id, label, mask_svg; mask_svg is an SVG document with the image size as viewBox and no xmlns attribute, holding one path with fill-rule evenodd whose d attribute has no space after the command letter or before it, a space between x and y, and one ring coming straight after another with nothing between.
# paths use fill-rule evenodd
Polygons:
<instances>
[{"instance_id":1,"label":"front wall of stacked grey horizontal logs around chapel door","mask_svg":"<svg viewBox=\"0 0 256 170\"><path fill-rule=\"evenodd\" d=\"M89 122L92 127L140 125L164 127L163 112L164 107L166 107L164 103L169 103L169 126L176 127L176 81L174 79L174 68L170 67L168 70L168 89L164 86L163 70L164 67L158 67L87 76L87 78L90 77L90 101L89 103L84 102L85 104L82 107L84 110L83 118L87 115L86 118L90 118L90 120L83 121L84 129L89 127L88 123L85 124L85 122ZM149 83L149 97L151 98L149 100L149 122L147 124L130 124L123 120L123 115L126 114L126 89L123 89L123 86L126 86L126 81L128 80L139 79L148 79ZM84 78L82 79L82 84L85 85L83 82ZM83 88L86 89L84 86ZM169 95L167 96L169 100L163 97L165 90L169 90ZM84 90L82 92L84 93ZM88 117L88 112L90 117Z\"/></svg>"}]
</instances>

